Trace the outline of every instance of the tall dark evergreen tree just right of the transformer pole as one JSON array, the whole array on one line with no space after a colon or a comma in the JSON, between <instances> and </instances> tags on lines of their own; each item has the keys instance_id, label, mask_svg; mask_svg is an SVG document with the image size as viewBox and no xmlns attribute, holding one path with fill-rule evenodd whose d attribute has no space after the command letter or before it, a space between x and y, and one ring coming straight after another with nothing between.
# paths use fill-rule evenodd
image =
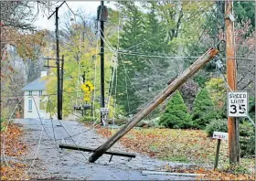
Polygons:
<instances>
[{"instance_id":1,"label":"tall dark evergreen tree just right of the transformer pole","mask_svg":"<svg viewBox=\"0 0 256 181\"><path fill-rule=\"evenodd\" d=\"M125 52L142 52L142 46L137 45L144 41L144 14L134 2L121 2L120 4L125 15L120 48ZM136 72L142 72L146 68L147 64L143 59L133 55L119 54L117 103L123 105L125 112L138 107L130 80L133 80Z\"/></svg>"}]
</instances>

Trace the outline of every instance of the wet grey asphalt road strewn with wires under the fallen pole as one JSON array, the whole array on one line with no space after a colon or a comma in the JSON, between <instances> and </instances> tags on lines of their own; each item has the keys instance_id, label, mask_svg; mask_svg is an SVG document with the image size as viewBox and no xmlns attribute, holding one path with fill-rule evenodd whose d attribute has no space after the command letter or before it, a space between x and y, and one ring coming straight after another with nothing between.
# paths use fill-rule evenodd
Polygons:
<instances>
[{"instance_id":1,"label":"wet grey asphalt road strewn with wires under the fallen pole","mask_svg":"<svg viewBox=\"0 0 256 181\"><path fill-rule=\"evenodd\" d=\"M63 180L190 180L191 176L143 175L143 170L160 171L165 165L182 165L179 163L164 162L150 157L136 154L136 158L129 161L126 157L104 154L95 163L88 162L91 153L62 149L58 145L77 144L97 148L106 141L101 135L79 122L38 119L16 120L25 129L22 138L29 147L29 154L23 157L22 162L34 165L28 175L34 179L63 179ZM44 128L42 132L42 128ZM66 132L65 131L65 129ZM54 132L53 132L54 130ZM75 135L77 134L77 135ZM72 136L72 138L69 137ZM41 139L39 139L41 136ZM40 141L39 147L38 142ZM38 152L37 152L37 148ZM129 152L121 144L115 144L112 151Z\"/></svg>"}]
</instances>

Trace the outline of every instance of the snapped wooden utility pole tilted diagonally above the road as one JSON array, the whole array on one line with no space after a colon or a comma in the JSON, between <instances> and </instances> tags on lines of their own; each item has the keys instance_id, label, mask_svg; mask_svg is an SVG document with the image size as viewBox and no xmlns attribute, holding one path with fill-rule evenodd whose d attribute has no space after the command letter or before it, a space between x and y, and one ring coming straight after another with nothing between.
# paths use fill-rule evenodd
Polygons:
<instances>
[{"instance_id":1,"label":"snapped wooden utility pole tilted diagonally above the road","mask_svg":"<svg viewBox=\"0 0 256 181\"><path fill-rule=\"evenodd\" d=\"M174 93L182 84L184 84L189 78L191 78L199 69L208 63L210 59L213 59L218 54L218 50L215 48L209 48L208 51L202 55L197 61L195 61L186 71L184 71L176 80L171 82L164 91L150 101L144 109L133 116L130 122L127 122L117 133L115 133L106 143L101 144L89 158L89 162L94 163L102 154L104 154L109 148L112 147L118 140L120 140L124 134L128 133L138 122L144 119L150 112L153 112L155 108L165 101L169 95Z\"/></svg>"}]
</instances>

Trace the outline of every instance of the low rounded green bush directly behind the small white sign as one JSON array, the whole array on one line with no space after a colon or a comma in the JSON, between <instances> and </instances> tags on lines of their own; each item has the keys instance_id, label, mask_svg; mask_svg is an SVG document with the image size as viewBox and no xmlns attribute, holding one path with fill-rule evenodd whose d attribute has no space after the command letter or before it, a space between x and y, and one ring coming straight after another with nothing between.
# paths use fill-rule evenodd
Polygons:
<instances>
[{"instance_id":1,"label":"low rounded green bush directly behind the small white sign","mask_svg":"<svg viewBox=\"0 0 256 181\"><path fill-rule=\"evenodd\" d=\"M213 132L228 132L227 120L218 119L212 120L206 126L206 133L208 133L208 137L211 137Z\"/></svg>"}]
</instances>

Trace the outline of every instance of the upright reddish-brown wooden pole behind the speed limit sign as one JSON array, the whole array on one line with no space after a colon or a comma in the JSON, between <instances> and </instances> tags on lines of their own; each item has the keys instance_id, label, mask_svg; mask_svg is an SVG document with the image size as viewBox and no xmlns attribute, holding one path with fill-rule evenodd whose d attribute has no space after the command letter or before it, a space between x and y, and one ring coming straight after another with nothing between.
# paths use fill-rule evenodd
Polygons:
<instances>
[{"instance_id":1,"label":"upright reddish-brown wooden pole behind the speed limit sign","mask_svg":"<svg viewBox=\"0 0 256 181\"><path fill-rule=\"evenodd\" d=\"M235 58L233 1L225 1L227 80L232 91L237 90L237 65ZM240 162L239 122L235 117L228 117L229 164Z\"/></svg>"}]
</instances>

